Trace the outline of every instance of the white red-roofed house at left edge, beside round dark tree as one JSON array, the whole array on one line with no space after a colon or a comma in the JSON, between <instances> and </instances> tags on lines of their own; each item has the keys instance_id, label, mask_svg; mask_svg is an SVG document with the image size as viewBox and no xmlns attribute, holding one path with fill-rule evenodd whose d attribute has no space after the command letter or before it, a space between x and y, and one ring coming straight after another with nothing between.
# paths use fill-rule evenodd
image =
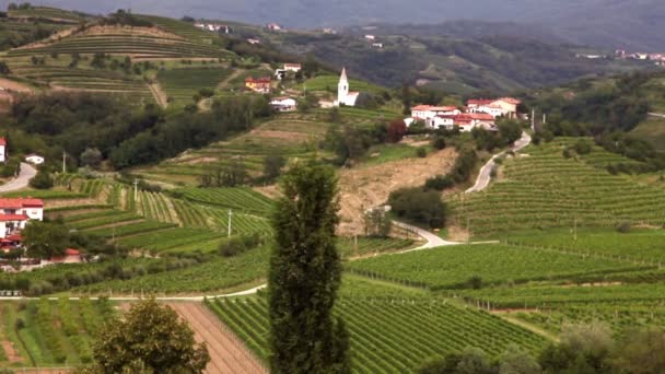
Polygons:
<instances>
[{"instance_id":1,"label":"white red-roofed house at left edge, beside round dark tree","mask_svg":"<svg viewBox=\"0 0 665 374\"><path fill-rule=\"evenodd\" d=\"M0 238L18 234L30 220L43 219L44 201L40 199L0 199Z\"/></svg>"}]
</instances>

